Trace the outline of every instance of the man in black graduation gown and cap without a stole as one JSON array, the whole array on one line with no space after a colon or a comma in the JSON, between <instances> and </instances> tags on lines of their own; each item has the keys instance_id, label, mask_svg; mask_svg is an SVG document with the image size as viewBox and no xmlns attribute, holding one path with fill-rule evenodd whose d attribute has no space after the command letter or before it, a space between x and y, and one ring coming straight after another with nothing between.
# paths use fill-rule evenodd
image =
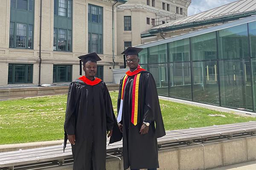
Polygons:
<instances>
[{"instance_id":1,"label":"man in black graduation gown and cap without a stole","mask_svg":"<svg viewBox=\"0 0 256 170\"><path fill-rule=\"evenodd\" d=\"M108 88L96 78L96 53L80 56L85 75L70 84L64 122L67 139L72 145L73 170L106 170L106 131L112 135L116 122ZM117 122L116 122L117 126Z\"/></svg>"}]
</instances>

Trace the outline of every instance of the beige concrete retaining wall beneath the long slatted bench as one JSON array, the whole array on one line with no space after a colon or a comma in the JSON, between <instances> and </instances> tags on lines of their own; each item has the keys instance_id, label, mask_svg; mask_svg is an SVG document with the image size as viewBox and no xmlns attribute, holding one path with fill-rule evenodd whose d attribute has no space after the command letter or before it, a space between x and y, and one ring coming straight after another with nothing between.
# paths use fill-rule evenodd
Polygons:
<instances>
[{"instance_id":1,"label":"beige concrete retaining wall beneath the long slatted bench","mask_svg":"<svg viewBox=\"0 0 256 170\"><path fill-rule=\"evenodd\" d=\"M256 135L159 150L158 170L207 170L256 160ZM123 160L106 160L106 170L123 170ZM72 170L73 164L45 170Z\"/></svg>"}]
</instances>

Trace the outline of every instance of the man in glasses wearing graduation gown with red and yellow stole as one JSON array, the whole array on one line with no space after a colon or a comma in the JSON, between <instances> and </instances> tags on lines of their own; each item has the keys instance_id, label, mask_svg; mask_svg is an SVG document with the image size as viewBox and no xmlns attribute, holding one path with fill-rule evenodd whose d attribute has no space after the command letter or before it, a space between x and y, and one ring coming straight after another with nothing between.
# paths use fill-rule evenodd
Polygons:
<instances>
[{"instance_id":1,"label":"man in glasses wearing graduation gown with red and yellow stole","mask_svg":"<svg viewBox=\"0 0 256 170\"><path fill-rule=\"evenodd\" d=\"M128 167L156 170L159 167L157 138L166 134L154 78L139 65L141 50L128 47L122 53L126 54L130 68L120 80L117 102L125 170Z\"/></svg>"}]
</instances>

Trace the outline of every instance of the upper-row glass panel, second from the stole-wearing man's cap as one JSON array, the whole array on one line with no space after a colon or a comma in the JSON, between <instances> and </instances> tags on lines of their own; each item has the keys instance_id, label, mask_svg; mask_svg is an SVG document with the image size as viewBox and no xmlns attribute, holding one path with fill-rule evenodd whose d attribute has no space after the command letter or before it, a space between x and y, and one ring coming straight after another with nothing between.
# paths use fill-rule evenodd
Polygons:
<instances>
[{"instance_id":1,"label":"upper-row glass panel, second from the stole-wearing man's cap","mask_svg":"<svg viewBox=\"0 0 256 170\"><path fill-rule=\"evenodd\" d=\"M167 44L149 48L148 63L167 62Z\"/></svg>"}]
</instances>

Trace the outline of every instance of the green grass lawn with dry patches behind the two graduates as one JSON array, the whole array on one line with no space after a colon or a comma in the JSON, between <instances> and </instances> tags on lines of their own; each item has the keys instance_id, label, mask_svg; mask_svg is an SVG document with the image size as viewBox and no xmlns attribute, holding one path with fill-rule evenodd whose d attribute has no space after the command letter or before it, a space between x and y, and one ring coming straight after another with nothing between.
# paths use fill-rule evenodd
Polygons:
<instances>
[{"instance_id":1,"label":"green grass lawn with dry patches behind the two graduates","mask_svg":"<svg viewBox=\"0 0 256 170\"><path fill-rule=\"evenodd\" d=\"M118 92L111 92L116 113ZM63 124L67 95L32 97L0 102L0 144L64 139ZM160 100L166 130L204 127L256 118L212 111L205 108ZM218 114L222 116L208 116Z\"/></svg>"}]
</instances>

